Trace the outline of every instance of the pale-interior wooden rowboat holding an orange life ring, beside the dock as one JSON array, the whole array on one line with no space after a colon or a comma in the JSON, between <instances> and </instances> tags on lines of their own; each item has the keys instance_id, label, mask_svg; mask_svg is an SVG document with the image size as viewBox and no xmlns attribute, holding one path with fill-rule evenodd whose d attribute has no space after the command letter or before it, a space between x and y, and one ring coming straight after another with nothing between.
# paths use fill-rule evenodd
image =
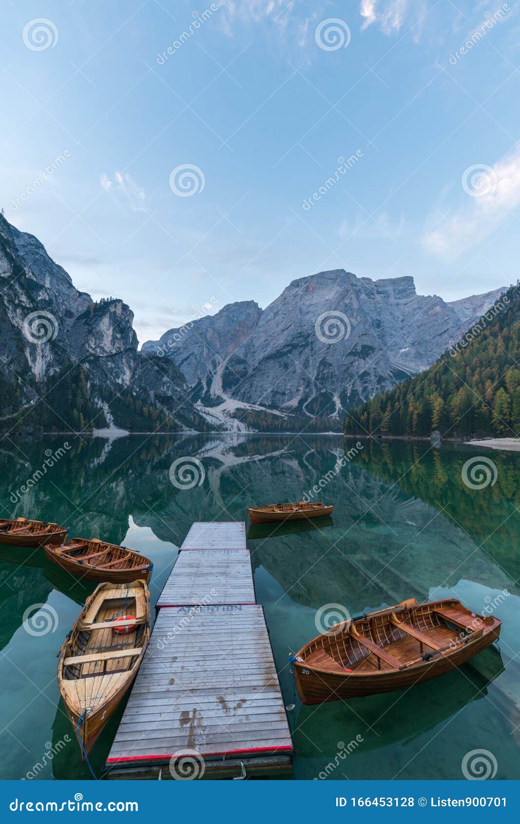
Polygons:
<instances>
[{"instance_id":1,"label":"pale-interior wooden rowboat holding an orange life ring, beside the dock","mask_svg":"<svg viewBox=\"0 0 520 824\"><path fill-rule=\"evenodd\" d=\"M59 691L83 760L134 681L149 639L144 581L101 583L87 599L58 663Z\"/></svg>"}]
</instances>

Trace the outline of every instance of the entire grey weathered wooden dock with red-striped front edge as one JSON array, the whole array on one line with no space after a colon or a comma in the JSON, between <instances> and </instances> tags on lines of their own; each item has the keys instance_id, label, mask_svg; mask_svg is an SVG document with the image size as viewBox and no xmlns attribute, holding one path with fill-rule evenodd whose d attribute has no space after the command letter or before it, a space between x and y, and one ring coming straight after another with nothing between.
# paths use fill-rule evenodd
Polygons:
<instances>
[{"instance_id":1,"label":"entire grey weathered wooden dock with red-striped front edge","mask_svg":"<svg viewBox=\"0 0 520 824\"><path fill-rule=\"evenodd\" d=\"M110 779L278 775L293 742L244 523L194 523L157 602ZM182 775L182 777L186 777Z\"/></svg>"}]
</instances>

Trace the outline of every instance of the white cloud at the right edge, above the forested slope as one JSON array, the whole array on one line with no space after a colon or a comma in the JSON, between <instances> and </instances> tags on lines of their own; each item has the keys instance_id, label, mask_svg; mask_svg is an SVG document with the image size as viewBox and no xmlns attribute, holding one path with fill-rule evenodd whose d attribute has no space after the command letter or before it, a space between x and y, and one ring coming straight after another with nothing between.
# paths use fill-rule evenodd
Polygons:
<instances>
[{"instance_id":1,"label":"white cloud at the right edge, above the forested slope","mask_svg":"<svg viewBox=\"0 0 520 824\"><path fill-rule=\"evenodd\" d=\"M427 250L447 260L498 232L520 208L520 143L494 166L468 167L461 181L464 204L421 240Z\"/></svg>"}]
</instances>

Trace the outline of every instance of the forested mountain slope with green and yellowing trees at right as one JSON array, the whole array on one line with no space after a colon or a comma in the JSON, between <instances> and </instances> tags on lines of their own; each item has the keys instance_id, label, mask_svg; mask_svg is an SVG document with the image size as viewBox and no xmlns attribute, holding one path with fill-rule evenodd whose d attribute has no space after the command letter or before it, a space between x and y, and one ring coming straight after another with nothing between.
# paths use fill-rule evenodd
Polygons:
<instances>
[{"instance_id":1,"label":"forested mountain slope with green and yellowing trees at right","mask_svg":"<svg viewBox=\"0 0 520 824\"><path fill-rule=\"evenodd\" d=\"M520 293L512 286L429 369L353 410L346 433L520 434ZM468 298L474 300L474 298Z\"/></svg>"}]
</instances>

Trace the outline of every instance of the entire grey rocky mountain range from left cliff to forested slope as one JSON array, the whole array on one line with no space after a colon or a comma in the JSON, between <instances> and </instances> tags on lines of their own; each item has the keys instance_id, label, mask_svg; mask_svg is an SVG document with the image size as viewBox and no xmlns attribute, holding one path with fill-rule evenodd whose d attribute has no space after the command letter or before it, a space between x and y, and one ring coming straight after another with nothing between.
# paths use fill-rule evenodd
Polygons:
<instances>
[{"instance_id":1,"label":"entire grey rocky mountain range from left cliff to forested slope","mask_svg":"<svg viewBox=\"0 0 520 824\"><path fill-rule=\"evenodd\" d=\"M410 277L337 269L294 280L264 311L229 304L139 353L129 307L78 292L3 216L0 290L0 426L38 405L45 428L137 431L300 429L315 415L337 426L345 410L429 367L504 292L446 303L418 295Z\"/></svg>"}]
</instances>

